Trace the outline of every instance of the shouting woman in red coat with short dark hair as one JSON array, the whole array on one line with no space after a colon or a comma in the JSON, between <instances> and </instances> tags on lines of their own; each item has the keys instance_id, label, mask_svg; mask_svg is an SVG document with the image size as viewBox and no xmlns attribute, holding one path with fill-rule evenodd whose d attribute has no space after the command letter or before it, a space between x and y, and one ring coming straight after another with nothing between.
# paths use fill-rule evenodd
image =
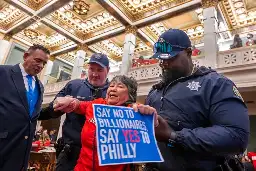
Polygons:
<instances>
[{"instance_id":1,"label":"shouting woman in red coat with short dark hair","mask_svg":"<svg viewBox=\"0 0 256 171\"><path fill-rule=\"evenodd\" d=\"M55 110L66 113L75 111L86 116L86 121L82 129L81 141L82 149L74 171L130 171L130 165L109 165L99 166L96 143L96 125L93 115L92 104L107 104L115 106L131 106L136 102L137 82L126 76L116 76L110 82L106 99L96 99L93 101L78 101L72 97L61 97L56 99ZM135 110L142 114L155 114L156 110L145 105L134 105ZM156 118L156 117L155 117ZM155 124L158 124L157 121Z\"/></svg>"}]
</instances>

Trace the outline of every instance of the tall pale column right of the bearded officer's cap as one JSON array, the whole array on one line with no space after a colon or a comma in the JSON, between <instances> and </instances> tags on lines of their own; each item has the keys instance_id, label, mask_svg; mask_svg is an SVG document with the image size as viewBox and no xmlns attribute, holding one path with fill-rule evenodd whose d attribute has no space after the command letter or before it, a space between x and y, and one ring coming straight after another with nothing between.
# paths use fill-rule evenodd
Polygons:
<instances>
[{"instance_id":1,"label":"tall pale column right of the bearded officer's cap","mask_svg":"<svg viewBox=\"0 0 256 171\"><path fill-rule=\"evenodd\" d=\"M202 0L204 21L204 65L211 68L217 67L218 59L218 21L216 7L218 0Z\"/></svg>"}]
</instances>

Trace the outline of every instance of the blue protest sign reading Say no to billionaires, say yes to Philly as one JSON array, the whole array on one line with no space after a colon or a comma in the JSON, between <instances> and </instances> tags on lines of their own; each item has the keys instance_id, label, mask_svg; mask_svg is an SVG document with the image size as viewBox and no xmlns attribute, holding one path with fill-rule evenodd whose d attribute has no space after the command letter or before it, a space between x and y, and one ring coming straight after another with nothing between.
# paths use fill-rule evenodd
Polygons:
<instances>
[{"instance_id":1,"label":"blue protest sign reading Say no to billionaires, say yes to Philly","mask_svg":"<svg viewBox=\"0 0 256 171\"><path fill-rule=\"evenodd\" d=\"M153 115L132 108L93 105L99 165L162 162Z\"/></svg>"}]
</instances>

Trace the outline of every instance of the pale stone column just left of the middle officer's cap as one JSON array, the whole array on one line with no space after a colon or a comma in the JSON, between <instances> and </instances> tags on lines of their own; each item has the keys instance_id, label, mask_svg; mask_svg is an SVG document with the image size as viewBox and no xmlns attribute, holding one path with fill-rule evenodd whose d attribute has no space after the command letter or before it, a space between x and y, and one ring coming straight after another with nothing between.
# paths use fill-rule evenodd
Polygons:
<instances>
[{"instance_id":1,"label":"pale stone column just left of the middle officer's cap","mask_svg":"<svg viewBox=\"0 0 256 171\"><path fill-rule=\"evenodd\" d=\"M88 47L86 45L80 45L78 49L79 50L76 52L75 63L71 74L72 80L81 77L81 73L84 67L86 50L88 49Z\"/></svg>"}]
</instances>

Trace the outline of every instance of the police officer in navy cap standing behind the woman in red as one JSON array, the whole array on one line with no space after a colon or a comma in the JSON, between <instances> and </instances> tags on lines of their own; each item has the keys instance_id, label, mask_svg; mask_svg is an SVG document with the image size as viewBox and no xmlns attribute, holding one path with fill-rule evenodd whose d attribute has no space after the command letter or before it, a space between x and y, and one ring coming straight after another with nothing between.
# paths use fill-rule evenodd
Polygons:
<instances>
[{"instance_id":1,"label":"police officer in navy cap standing behind the woman in red","mask_svg":"<svg viewBox=\"0 0 256 171\"><path fill-rule=\"evenodd\" d=\"M93 54L89 61L88 78L86 80L71 80L56 95L57 97L73 96L79 100L91 101L96 98L105 98L109 86L107 75L109 72L108 57L101 53ZM54 100L55 100L54 99ZM62 112L54 111L53 101L40 113L40 120L47 120L61 116ZM62 128L63 146L58 147L61 151L57 157L57 171L70 171L76 165L81 149L81 131L85 122L85 117L76 113L66 115L66 120Z\"/></svg>"}]
</instances>

